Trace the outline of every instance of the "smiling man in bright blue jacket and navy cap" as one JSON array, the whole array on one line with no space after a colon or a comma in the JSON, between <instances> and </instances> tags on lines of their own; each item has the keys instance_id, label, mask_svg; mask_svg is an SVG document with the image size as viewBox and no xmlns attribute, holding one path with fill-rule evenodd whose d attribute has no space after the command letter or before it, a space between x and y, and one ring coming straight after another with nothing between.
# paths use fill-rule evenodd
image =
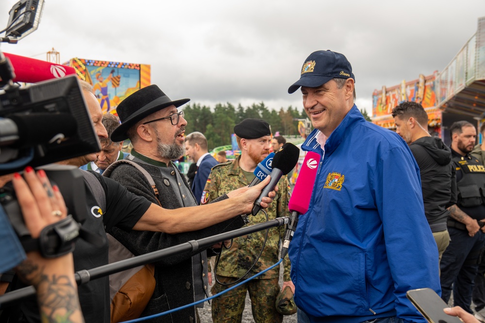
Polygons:
<instances>
[{"instance_id":1,"label":"smiling man in bright blue jacket and navy cap","mask_svg":"<svg viewBox=\"0 0 485 323\"><path fill-rule=\"evenodd\" d=\"M302 149L323 157L289 250L298 322L425 323L406 298L440 293L419 168L402 138L364 120L354 84L344 55L316 51L288 89L301 87L315 128Z\"/></svg>"}]
</instances>

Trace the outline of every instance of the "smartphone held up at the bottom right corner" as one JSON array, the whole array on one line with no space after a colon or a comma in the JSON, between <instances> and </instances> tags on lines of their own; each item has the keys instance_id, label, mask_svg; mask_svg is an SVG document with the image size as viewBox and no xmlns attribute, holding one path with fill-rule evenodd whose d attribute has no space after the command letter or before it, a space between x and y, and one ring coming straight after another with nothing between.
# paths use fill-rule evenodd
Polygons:
<instances>
[{"instance_id":1,"label":"smartphone held up at the bottom right corner","mask_svg":"<svg viewBox=\"0 0 485 323\"><path fill-rule=\"evenodd\" d=\"M431 288L410 290L406 296L429 323L463 323L457 316L443 311L448 305Z\"/></svg>"}]
</instances>

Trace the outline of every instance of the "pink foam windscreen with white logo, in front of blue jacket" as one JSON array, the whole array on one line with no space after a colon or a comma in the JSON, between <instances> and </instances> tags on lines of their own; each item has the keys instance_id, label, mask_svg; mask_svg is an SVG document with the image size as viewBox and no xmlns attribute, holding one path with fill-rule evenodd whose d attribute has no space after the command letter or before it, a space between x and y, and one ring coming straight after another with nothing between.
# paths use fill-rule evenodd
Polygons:
<instances>
[{"instance_id":1,"label":"pink foam windscreen with white logo, in front of blue jacket","mask_svg":"<svg viewBox=\"0 0 485 323\"><path fill-rule=\"evenodd\" d=\"M319 164L320 154L307 152L288 203L288 208L291 212L296 211L298 214L307 213Z\"/></svg>"}]
</instances>

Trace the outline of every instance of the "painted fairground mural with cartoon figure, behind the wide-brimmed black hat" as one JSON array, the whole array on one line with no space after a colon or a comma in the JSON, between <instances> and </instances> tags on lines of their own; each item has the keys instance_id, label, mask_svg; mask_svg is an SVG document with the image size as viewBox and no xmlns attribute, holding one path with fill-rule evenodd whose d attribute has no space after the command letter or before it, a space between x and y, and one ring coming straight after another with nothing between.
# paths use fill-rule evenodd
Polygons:
<instances>
[{"instance_id":1,"label":"painted fairground mural with cartoon figure, behind the wide-brimmed black hat","mask_svg":"<svg viewBox=\"0 0 485 323\"><path fill-rule=\"evenodd\" d=\"M116 114L116 107L131 93L150 85L150 65L95 61L74 58L69 61L82 80L93 85L103 113Z\"/></svg>"}]
</instances>

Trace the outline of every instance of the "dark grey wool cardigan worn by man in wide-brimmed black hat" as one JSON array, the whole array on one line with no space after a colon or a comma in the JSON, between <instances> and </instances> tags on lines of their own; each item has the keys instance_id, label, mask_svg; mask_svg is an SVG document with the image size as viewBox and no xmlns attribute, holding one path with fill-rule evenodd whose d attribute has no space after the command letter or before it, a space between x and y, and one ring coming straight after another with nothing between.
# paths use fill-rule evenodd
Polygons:
<instances>
[{"instance_id":1,"label":"dark grey wool cardigan worn by man in wide-brimmed black hat","mask_svg":"<svg viewBox=\"0 0 485 323\"><path fill-rule=\"evenodd\" d=\"M134 161L136 161L136 159ZM166 184L168 179L164 178L164 175L162 175L157 166L148 165L144 162L139 162L139 164L153 177L160 193L159 200L162 207L167 209L183 207L180 203L180 198L176 195L178 193L174 194L175 192L171 186ZM177 167L174 167L173 169L181 174ZM172 175L175 176L175 173L172 172ZM155 195L153 194L153 190L145 176L134 167L122 164L113 170L110 178L125 186L130 192L143 196L147 200L158 204ZM188 184L183 174L181 174L181 179L183 181L183 184L181 185L185 185L188 188ZM188 190L190 191L190 188ZM227 196L225 195L221 198L226 199ZM244 221L242 220L242 217L238 215L232 219L203 230L178 234L151 231L126 232L117 228L113 228L110 233L133 254L141 255L162 248L176 246L190 240L197 240L222 232L235 230L241 228L243 225ZM146 306L142 316L164 312L194 302L192 256L200 253L204 249L162 259L161 261L154 263L156 288L152 299ZM182 309L171 315L164 315L150 320L150 322L195 322L195 308L191 307Z\"/></svg>"}]
</instances>

